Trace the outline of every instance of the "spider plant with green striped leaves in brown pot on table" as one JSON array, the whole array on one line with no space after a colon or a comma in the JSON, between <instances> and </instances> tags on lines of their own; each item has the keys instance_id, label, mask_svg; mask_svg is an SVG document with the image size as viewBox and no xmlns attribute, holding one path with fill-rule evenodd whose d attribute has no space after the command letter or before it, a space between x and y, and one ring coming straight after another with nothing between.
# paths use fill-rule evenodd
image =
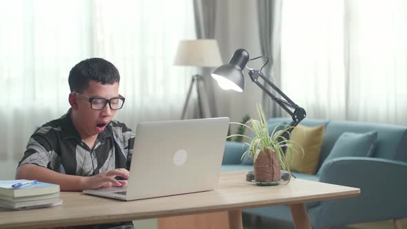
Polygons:
<instances>
[{"instance_id":1,"label":"spider plant with green striped leaves in brown pot on table","mask_svg":"<svg viewBox=\"0 0 407 229\"><path fill-rule=\"evenodd\" d=\"M250 143L244 143L244 145L248 145L249 148L241 156L241 159L246 155L248 155L249 159L253 158L256 182L263 185L277 184L281 180L281 169L286 170L289 177L291 177L290 166L288 165L286 157L292 157L295 152L292 148L292 144L295 142L286 139L286 137L282 135L293 127L279 125L270 133L266 115L264 115L264 110L260 104L257 104L257 115L259 116L259 120L250 119L246 123L231 122L249 128L254 133L254 137L230 135L228 138L241 136L250 139ZM249 123L251 127L248 126ZM284 148L286 152L284 152Z\"/></svg>"}]
</instances>

